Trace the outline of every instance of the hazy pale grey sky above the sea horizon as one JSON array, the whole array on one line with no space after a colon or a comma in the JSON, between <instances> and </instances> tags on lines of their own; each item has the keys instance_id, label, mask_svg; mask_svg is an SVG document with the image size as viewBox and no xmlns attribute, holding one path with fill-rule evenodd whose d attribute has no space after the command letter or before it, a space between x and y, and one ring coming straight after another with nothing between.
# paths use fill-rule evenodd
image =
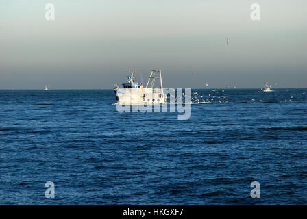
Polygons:
<instances>
[{"instance_id":1,"label":"hazy pale grey sky above the sea horizon","mask_svg":"<svg viewBox=\"0 0 307 219\"><path fill-rule=\"evenodd\" d=\"M260 21L250 18L252 3ZM0 89L112 89L129 66L143 83L161 69L166 88L306 88L306 8L303 0L0 0Z\"/></svg>"}]
</instances>

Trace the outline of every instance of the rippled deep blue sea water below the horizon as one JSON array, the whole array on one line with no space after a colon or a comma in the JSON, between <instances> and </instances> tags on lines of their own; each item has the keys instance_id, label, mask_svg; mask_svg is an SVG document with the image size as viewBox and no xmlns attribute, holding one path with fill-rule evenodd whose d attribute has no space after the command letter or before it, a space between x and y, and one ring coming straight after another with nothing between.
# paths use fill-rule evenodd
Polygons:
<instances>
[{"instance_id":1,"label":"rippled deep blue sea water below the horizon","mask_svg":"<svg viewBox=\"0 0 307 219\"><path fill-rule=\"evenodd\" d=\"M307 89L195 91L210 103L177 120L112 90L0 90L0 204L306 205Z\"/></svg>"}]
</instances>

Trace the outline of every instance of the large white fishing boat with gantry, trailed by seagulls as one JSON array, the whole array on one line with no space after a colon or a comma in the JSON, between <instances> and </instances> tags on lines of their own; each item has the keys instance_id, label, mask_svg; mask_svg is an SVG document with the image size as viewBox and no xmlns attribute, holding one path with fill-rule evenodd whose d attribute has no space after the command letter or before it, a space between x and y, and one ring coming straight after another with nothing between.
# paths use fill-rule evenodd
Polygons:
<instances>
[{"instance_id":1,"label":"large white fishing boat with gantry, trailed by seagulls","mask_svg":"<svg viewBox=\"0 0 307 219\"><path fill-rule=\"evenodd\" d=\"M164 96L163 92L161 70L151 70L145 88L143 83L136 82L134 75L134 70L128 73L127 81L122 84L122 88L117 84L114 85L115 99L119 101L119 104L146 105L167 103L167 95ZM153 88L157 80L160 81L160 88Z\"/></svg>"}]
</instances>

